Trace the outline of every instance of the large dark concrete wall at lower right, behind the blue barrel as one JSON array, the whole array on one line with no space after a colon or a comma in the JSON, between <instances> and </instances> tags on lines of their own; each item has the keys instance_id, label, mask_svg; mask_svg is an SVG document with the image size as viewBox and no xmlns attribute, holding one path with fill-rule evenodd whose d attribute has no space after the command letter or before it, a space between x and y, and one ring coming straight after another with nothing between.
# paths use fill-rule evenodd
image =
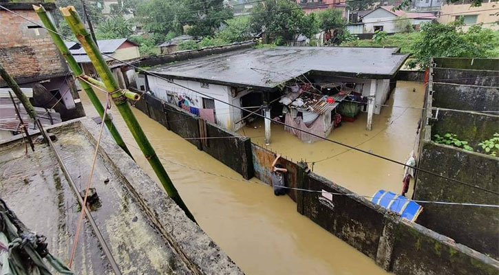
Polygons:
<instances>
[{"instance_id":1,"label":"large dark concrete wall at lower right, behind the blue barrel","mask_svg":"<svg viewBox=\"0 0 499 275\"><path fill-rule=\"evenodd\" d=\"M423 142L419 167L499 192L499 159L495 157ZM418 173L414 199L499 204L498 195L421 171ZM417 222L455 239L458 243L499 258L498 208L428 203Z\"/></svg>"}]
</instances>

